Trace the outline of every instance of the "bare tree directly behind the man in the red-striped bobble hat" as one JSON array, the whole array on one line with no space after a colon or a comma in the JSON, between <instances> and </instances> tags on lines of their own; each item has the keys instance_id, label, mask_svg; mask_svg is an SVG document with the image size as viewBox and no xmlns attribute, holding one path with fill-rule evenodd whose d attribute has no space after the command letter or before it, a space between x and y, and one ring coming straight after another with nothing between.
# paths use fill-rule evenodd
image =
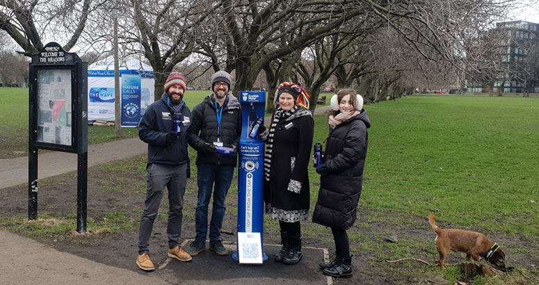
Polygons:
<instances>
[{"instance_id":1,"label":"bare tree directly behind the man in the red-striped bobble hat","mask_svg":"<svg viewBox=\"0 0 539 285\"><path fill-rule=\"evenodd\" d=\"M136 29L124 29L124 47L131 44L134 53L142 47L142 54L154 70L155 98L159 99L168 74L198 49L198 31L209 15L211 2L131 0L130 3L129 15Z\"/></svg>"}]
</instances>

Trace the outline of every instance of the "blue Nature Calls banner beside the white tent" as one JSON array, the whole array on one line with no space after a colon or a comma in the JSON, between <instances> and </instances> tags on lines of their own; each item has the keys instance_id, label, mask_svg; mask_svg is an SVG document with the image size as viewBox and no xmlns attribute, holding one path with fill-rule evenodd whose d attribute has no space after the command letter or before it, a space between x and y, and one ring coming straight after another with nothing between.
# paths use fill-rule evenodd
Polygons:
<instances>
[{"instance_id":1,"label":"blue Nature Calls banner beside the white tent","mask_svg":"<svg viewBox=\"0 0 539 285\"><path fill-rule=\"evenodd\" d=\"M137 127L140 121L140 76L122 75L122 127Z\"/></svg>"}]
</instances>

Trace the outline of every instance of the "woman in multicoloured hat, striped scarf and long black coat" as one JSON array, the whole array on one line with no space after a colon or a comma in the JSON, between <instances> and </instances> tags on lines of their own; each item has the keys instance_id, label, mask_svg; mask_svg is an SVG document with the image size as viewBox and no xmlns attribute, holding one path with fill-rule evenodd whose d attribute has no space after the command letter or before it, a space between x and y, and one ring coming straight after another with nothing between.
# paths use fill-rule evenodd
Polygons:
<instances>
[{"instance_id":1,"label":"woman in multicoloured hat, striped scarf and long black coat","mask_svg":"<svg viewBox=\"0 0 539 285\"><path fill-rule=\"evenodd\" d=\"M309 217L309 177L314 120L309 95L295 83L277 89L277 108L269 129L260 137L264 154L264 201L266 213L279 220L282 250L275 261L296 264L303 256L300 220Z\"/></svg>"}]
</instances>

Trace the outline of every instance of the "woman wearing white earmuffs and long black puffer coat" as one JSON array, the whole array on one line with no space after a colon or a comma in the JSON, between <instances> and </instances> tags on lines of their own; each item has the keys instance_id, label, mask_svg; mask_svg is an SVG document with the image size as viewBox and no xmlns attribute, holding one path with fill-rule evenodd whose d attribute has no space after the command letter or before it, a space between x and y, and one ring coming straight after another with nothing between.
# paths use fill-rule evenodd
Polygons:
<instances>
[{"instance_id":1,"label":"woman wearing white earmuffs and long black puffer coat","mask_svg":"<svg viewBox=\"0 0 539 285\"><path fill-rule=\"evenodd\" d=\"M320 177L318 201L312 221L331 228L336 257L319 266L325 275L352 277L352 257L346 230L355 222L363 184L371 122L363 98L344 89L331 98L330 135L325 144L325 163L316 168Z\"/></svg>"}]
</instances>

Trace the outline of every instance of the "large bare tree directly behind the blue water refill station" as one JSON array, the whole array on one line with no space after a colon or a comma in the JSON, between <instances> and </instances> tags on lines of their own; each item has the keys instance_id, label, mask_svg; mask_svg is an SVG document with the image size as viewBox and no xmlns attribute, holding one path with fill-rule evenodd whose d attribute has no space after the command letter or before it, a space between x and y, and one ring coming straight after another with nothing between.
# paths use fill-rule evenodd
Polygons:
<instances>
[{"instance_id":1,"label":"large bare tree directly behind the blue water refill station","mask_svg":"<svg viewBox=\"0 0 539 285\"><path fill-rule=\"evenodd\" d=\"M211 20L225 37L207 51L226 50L225 70L235 70L234 92L252 88L273 60L335 33L362 12L360 1L222 1ZM283 38L287 40L282 40ZM269 101L269 100L268 100ZM269 103L269 102L268 102Z\"/></svg>"}]
</instances>

